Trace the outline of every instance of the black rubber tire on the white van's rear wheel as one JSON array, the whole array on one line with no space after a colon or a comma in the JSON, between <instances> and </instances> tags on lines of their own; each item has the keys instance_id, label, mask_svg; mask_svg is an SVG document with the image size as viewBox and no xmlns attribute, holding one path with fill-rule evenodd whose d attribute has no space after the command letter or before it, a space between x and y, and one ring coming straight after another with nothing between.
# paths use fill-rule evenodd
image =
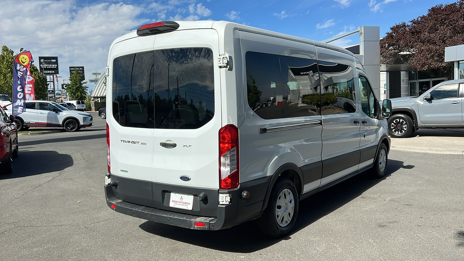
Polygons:
<instances>
[{"instance_id":1,"label":"black rubber tire on the white van's rear wheel","mask_svg":"<svg viewBox=\"0 0 464 261\"><path fill-rule=\"evenodd\" d=\"M284 191L285 190L285 191ZM285 197L281 197L281 194L284 194L284 192L290 191L293 195L291 195L289 198L289 203L291 204L291 201L293 201L293 213L290 213L291 211L287 211L291 208L285 207L286 209L283 212L283 215L280 215L280 221L278 221L277 217L277 208L279 205L277 205L277 201L280 201L281 199L286 199ZM290 194L287 194L290 195ZM290 233L291 229L295 226L296 222L296 217L298 215L298 193L295 187L295 184L293 182L286 178L277 181L277 183L274 185L274 188L271 191L271 195L269 197L269 202L264 210L263 215L258 219L258 226L259 230L264 235L268 235L271 237L282 237L284 235L287 235ZM282 209L282 206L280 207ZM291 215L290 215L291 214ZM290 217L290 221L286 223L287 220L284 220L285 217ZM284 226L282 226L279 223L284 223Z\"/></svg>"}]
</instances>

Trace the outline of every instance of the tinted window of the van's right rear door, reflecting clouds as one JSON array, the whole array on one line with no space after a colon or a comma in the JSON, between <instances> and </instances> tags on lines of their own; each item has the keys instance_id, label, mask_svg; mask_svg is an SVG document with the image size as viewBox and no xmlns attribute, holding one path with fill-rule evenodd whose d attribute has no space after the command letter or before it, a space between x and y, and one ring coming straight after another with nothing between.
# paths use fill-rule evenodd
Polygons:
<instances>
[{"instance_id":1,"label":"tinted window of the van's right rear door, reflecting clouds","mask_svg":"<svg viewBox=\"0 0 464 261\"><path fill-rule=\"evenodd\" d=\"M197 129L214 116L213 51L155 51L155 128Z\"/></svg>"}]
</instances>

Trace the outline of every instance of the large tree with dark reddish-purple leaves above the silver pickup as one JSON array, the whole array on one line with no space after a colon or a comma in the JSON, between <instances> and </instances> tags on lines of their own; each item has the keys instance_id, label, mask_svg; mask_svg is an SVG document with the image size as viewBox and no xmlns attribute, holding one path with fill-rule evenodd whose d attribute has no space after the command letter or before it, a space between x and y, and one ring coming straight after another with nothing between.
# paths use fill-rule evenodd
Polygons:
<instances>
[{"instance_id":1,"label":"large tree with dark reddish-purple leaves above the silver pickup","mask_svg":"<svg viewBox=\"0 0 464 261\"><path fill-rule=\"evenodd\" d=\"M445 47L464 44L464 0L439 4L428 13L390 28L380 41L385 64L406 63L419 71L438 71L453 78L452 63L445 62Z\"/></svg>"}]
</instances>

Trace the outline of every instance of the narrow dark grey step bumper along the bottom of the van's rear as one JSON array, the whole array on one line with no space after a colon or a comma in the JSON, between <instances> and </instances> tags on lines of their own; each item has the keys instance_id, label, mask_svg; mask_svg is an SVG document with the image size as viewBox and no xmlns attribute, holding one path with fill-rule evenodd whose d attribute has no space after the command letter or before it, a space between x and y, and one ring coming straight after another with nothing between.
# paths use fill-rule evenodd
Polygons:
<instances>
[{"instance_id":1,"label":"narrow dark grey step bumper along the bottom of the van's rear","mask_svg":"<svg viewBox=\"0 0 464 261\"><path fill-rule=\"evenodd\" d=\"M116 198L110 185L105 185L105 196L106 204L108 207L114 209L116 212L182 228L200 230L219 230L222 228L230 228L235 222L235 216L237 212L237 206L232 204L218 206L217 217L187 215L168 210L137 205ZM205 227L195 226L195 222L204 223Z\"/></svg>"}]
</instances>

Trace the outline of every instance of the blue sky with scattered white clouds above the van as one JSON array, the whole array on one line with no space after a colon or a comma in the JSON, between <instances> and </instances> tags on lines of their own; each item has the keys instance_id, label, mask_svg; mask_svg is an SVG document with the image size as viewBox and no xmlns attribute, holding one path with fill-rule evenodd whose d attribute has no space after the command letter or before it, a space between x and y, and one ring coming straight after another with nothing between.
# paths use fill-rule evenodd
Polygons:
<instances>
[{"instance_id":1,"label":"blue sky with scattered white clouds above the van","mask_svg":"<svg viewBox=\"0 0 464 261\"><path fill-rule=\"evenodd\" d=\"M0 46L15 53L31 51L58 56L59 82L69 78L69 66L84 66L85 78L104 73L109 47L117 37L139 26L166 20L227 20L248 26L322 41L380 26L380 37L391 26L408 22L438 4L454 0L1 0ZM331 44L359 44L359 35ZM66 82L66 81L65 81ZM89 90L95 84L88 83Z\"/></svg>"}]
</instances>

